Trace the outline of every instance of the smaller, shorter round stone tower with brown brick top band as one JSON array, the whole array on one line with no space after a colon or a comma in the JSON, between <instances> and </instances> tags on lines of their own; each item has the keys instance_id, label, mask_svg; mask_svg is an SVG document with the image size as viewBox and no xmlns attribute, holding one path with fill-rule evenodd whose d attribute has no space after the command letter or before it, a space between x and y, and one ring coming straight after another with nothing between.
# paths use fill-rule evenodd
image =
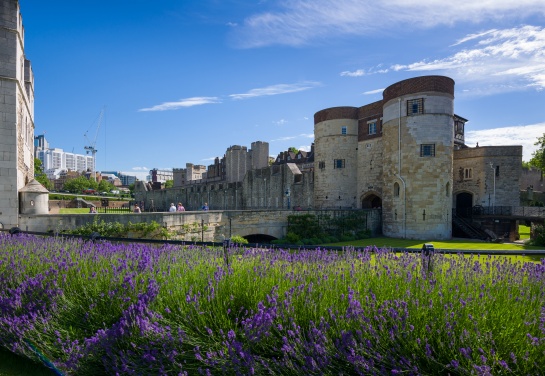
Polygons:
<instances>
[{"instance_id":1,"label":"smaller, shorter round stone tower with brown brick top band","mask_svg":"<svg viewBox=\"0 0 545 376\"><path fill-rule=\"evenodd\" d=\"M356 208L358 109L333 107L314 114L314 205Z\"/></svg>"}]
</instances>

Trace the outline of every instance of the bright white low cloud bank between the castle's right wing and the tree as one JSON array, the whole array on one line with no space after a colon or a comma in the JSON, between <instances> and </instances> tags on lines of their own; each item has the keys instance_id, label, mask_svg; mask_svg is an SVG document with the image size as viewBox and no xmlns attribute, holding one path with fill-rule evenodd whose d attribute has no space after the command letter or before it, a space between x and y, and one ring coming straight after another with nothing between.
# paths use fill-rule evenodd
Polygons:
<instances>
[{"instance_id":1,"label":"bright white low cloud bank between the castle's right wing and the tree","mask_svg":"<svg viewBox=\"0 0 545 376\"><path fill-rule=\"evenodd\" d=\"M492 128L465 133L468 146L522 145L522 160L529 161L537 150L534 143L545 134L545 123Z\"/></svg>"}]
</instances>

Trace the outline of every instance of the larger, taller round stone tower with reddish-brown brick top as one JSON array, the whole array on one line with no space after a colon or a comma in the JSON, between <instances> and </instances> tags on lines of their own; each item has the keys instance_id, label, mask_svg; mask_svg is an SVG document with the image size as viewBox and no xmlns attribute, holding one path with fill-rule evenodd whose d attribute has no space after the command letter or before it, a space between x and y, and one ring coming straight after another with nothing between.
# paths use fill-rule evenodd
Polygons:
<instances>
[{"instance_id":1,"label":"larger, taller round stone tower with reddish-brown brick top","mask_svg":"<svg viewBox=\"0 0 545 376\"><path fill-rule=\"evenodd\" d=\"M400 81L384 90L383 103L383 233L450 239L454 81Z\"/></svg>"}]
</instances>

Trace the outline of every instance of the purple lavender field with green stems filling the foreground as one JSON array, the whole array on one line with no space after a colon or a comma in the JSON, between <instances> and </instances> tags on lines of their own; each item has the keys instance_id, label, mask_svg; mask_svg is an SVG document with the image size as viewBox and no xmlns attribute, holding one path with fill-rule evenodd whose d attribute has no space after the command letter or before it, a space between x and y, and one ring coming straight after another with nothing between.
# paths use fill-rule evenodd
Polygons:
<instances>
[{"instance_id":1,"label":"purple lavender field with green stems filling the foreground","mask_svg":"<svg viewBox=\"0 0 545 376\"><path fill-rule=\"evenodd\" d=\"M545 264L0 234L0 346L64 375L542 375Z\"/></svg>"}]
</instances>

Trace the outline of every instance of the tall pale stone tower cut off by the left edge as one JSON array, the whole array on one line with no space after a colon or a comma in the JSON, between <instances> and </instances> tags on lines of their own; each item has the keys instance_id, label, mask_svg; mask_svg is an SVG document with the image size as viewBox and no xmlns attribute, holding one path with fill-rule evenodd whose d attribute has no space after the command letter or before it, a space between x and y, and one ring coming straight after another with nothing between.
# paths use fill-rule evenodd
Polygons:
<instances>
[{"instance_id":1,"label":"tall pale stone tower cut off by the left edge","mask_svg":"<svg viewBox=\"0 0 545 376\"><path fill-rule=\"evenodd\" d=\"M34 76L17 0L0 0L0 32L0 227L10 228L34 177Z\"/></svg>"}]
</instances>

